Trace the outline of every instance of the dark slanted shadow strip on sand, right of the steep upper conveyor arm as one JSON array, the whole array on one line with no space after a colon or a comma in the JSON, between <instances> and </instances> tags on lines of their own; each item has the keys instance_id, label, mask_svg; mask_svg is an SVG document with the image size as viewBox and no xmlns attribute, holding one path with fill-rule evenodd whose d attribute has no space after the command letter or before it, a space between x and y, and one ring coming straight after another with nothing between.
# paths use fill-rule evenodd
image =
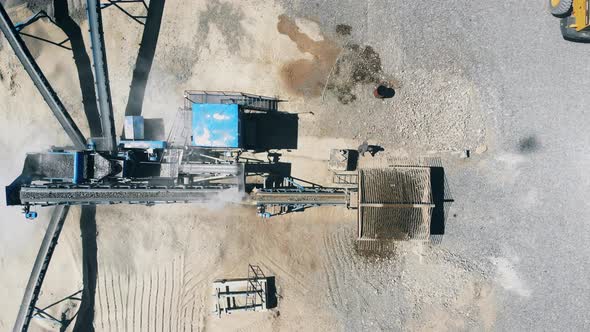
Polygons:
<instances>
[{"instance_id":1,"label":"dark slanted shadow strip on sand, right of the steep upper conveyor arm","mask_svg":"<svg viewBox=\"0 0 590 332\"><path fill-rule=\"evenodd\" d=\"M158 36L160 35L164 3L164 0L150 1L135 69L133 70L133 78L131 79L131 89L125 115L141 115L145 88L152 69L154 55L156 54Z\"/></svg>"}]
</instances>

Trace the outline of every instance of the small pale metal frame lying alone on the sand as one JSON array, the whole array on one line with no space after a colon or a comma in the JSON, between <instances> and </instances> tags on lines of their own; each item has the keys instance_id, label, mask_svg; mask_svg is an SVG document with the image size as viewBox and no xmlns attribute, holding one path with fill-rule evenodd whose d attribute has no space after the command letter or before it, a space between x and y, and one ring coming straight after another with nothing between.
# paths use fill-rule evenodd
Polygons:
<instances>
[{"instance_id":1,"label":"small pale metal frame lying alone on the sand","mask_svg":"<svg viewBox=\"0 0 590 332\"><path fill-rule=\"evenodd\" d=\"M213 289L218 317L234 311L267 310L267 277L258 265L248 264L248 278L213 281Z\"/></svg>"}]
</instances>

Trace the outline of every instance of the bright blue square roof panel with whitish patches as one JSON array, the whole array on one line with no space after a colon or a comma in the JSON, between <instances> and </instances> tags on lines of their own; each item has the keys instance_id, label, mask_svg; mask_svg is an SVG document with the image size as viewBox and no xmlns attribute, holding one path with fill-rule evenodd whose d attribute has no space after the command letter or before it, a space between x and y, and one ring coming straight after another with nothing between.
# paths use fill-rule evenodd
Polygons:
<instances>
[{"instance_id":1,"label":"bright blue square roof panel with whitish patches","mask_svg":"<svg viewBox=\"0 0 590 332\"><path fill-rule=\"evenodd\" d=\"M193 145L239 148L237 104L193 104Z\"/></svg>"}]
</instances>

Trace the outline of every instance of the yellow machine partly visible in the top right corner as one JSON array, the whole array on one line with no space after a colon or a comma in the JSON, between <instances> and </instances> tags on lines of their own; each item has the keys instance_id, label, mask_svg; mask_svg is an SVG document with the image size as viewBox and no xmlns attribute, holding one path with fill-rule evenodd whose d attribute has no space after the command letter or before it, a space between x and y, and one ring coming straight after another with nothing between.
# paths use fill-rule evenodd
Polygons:
<instances>
[{"instance_id":1,"label":"yellow machine partly visible in the top right corner","mask_svg":"<svg viewBox=\"0 0 590 332\"><path fill-rule=\"evenodd\" d=\"M590 43L590 0L549 0L549 6L561 18L564 39Z\"/></svg>"}]
</instances>

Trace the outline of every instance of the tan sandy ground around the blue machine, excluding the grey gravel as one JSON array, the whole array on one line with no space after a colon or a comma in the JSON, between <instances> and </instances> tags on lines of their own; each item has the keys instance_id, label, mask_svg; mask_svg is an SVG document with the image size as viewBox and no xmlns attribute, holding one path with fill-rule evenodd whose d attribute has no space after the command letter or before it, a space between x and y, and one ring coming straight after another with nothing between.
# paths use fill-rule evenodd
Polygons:
<instances>
[{"instance_id":1,"label":"tan sandy ground around the blue machine, excluding the grey gravel","mask_svg":"<svg viewBox=\"0 0 590 332\"><path fill-rule=\"evenodd\" d=\"M14 15L25 15L22 12L26 9L13 11ZM120 131L141 30L116 10L105 11L104 21ZM44 27L36 29L46 33ZM59 32L47 35L59 36ZM457 118L461 126L449 125L451 121L422 121L416 107L421 107L424 96L404 89L399 90L395 102L380 102L370 96L372 84L393 78L383 73L379 64L371 68L366 61L357 60L357 53L366 45L357 45L359 51L351 48L346 38L313 20L290 17L278 4L169 2L143 114L171 123L181 105L182 91L190 88L286 98L289 102L282 110L302 114L299 148L286 152L283 161L293 163L295 177L324 184L330 179L326 167L329 149L355 148L364 139L384 145L386 156L407 155L403 145L387 142L409 142L410 138L416 143L413 148L426 149L460 150L481 143L484 127L473 105L476 91L460 75L449 79L444 73L421 72L423 80L434 77L436 83L418 89L431 89L429 94L434 96L446 85L456 89L460 100L441 96L437 98L442 105L431 107L448 112L441 116ZM67 51L28 42L87 132L81 98L72 93L78 89ZM11 75L3 81L7 89L3 89L2 99L10 105L10 113L3 116L21 128L43 128L34 135L22 135L21 130L4 132L7 136L2 142L16 137L27 142L26 148L5 143L11 147L7 153L11 162L7 168L12 170L6 174L9 181L17 174L24 152L67 141L10 49L5 47L2 52L0 68ZM60 60L56 62L57 55ZM359 73L367 77L357 82L354 75ZM336 82L335 86L328 81ZM398 77L394 82L401 81ZM31 102L25 106L20 102L23 98ZM455 108L442 107L447 104ZM373 127L365 126L368 118L384 116L384 121ZM402 122L404 118L410 122ZM399 129L385 130L398 120L404 123ZM472 123L478 132L465 130ZM418 130L422 126L427 130ZM428 130L445 139L430 141ZM46 132L47 137L39 137ZM444 146L440 145L443 141ZM31 245L3 246L3 265L19 271L20 277L3 283L14 301L4 304L2 327L12 323L48 210L42 211L36 224L18 220L15 209L7 210L11 217L4 218L4 223L23 228L22 239ZM74 208L68 218L39 303L81 288L78 211ZM443 324L448 329L490 328L495 319L494 293L485 267L468 266L452 253L428 245L404 244L389 257L364 257L354 247L355 214L343 209L318 208L264 222L256 219L251 207L109 206L97 209L97 225L99 274L94 325L101 331L439 329L440 319L448 321ZM279 308L221 320L212 316L211 281L244 276L248 263L259 264L268 275L277 277ZM64 310L60 306L54 312ZM36 324L35 329L51 328L48 323Z\"/></svg>"}]
</instances>

